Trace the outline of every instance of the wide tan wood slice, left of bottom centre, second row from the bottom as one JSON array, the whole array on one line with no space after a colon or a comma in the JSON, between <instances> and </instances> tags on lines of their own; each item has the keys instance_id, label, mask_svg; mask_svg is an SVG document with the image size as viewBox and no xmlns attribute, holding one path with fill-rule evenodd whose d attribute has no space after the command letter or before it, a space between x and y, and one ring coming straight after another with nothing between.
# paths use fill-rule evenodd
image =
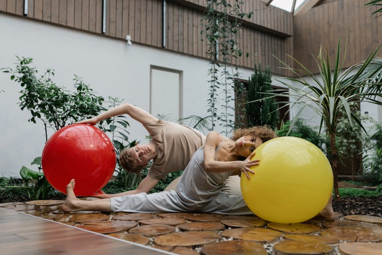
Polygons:
<instances>
[{"instance_id":1,"label":"wide tan wood slice, left of bottom centre, second row from the bottom","mask_svg":"<svg viewBox=\"0 0 382 255\"><path fill-rule=\"evenodd\" d=\"M215 242L220 235L212 231L188 231L171 233L154 238L158 245L191 246Z\"/></svg>"}]
</instances>

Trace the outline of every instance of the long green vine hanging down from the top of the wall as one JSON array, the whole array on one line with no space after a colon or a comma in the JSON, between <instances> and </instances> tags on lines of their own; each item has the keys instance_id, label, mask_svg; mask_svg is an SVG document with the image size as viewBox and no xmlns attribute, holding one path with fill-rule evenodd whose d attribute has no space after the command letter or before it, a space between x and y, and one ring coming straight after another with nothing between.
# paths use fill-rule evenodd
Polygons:
<instances>
[{"instance_id":1,"label":"long green vine hanging down from the top of the wall","mask_svg":"<svg viewBox=\"0 0 382 255\"><path fill-rule=\"evenodd\" d=\"M207 104L211 129L214 129L215 122L220 120L226 135L235 127L232 118L234 108L231 106L231 101L235 100L233 93L235 88L243 89L237 82L239 78L237 61L242 55L239 47L239 28L242 18L252 16L252 12L246 14L241 11L242 4L243 2L239 0L235 0L233 5L227 0L207 0L202 18L205 22L202 34L205 34L207 39L207 57L210 63Z\"/></svg>"}]
</instances>

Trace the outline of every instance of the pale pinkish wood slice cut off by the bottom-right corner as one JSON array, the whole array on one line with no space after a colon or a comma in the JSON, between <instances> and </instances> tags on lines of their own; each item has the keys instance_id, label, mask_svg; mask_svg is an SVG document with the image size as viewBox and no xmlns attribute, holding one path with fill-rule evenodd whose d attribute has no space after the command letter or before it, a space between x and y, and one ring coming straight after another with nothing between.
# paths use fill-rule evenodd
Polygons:
<instances>
[{"instance_id":1,"label":"pale pinkish wood slice cut off by the bottom-right corner","mask_svg":"<svg viewBox=\"0 0 382 255\"><path fill-rule=\"evenodd\" d=\"M382 243L341 243L338 248L343 255L382 255Z\"/></svg>"}]
</instances>

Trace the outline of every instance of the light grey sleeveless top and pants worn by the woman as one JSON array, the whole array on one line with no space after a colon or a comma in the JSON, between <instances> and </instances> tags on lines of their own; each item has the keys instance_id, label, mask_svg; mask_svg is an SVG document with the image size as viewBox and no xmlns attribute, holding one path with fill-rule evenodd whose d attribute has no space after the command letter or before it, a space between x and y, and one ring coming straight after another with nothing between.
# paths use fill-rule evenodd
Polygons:
<instances>
[{"instance_id":1,"label":"light grey sleeveless top and pants worn by the woman","mask_svg":"<svg viewBox=\"0 0 382 255\"><path fill-rule=\"evenodd\" d=\"M175 190L112 197L113 212L204 212L252 215L242 196L222 190L233 172L206 172L203 149L198 149Z\"/></svg>"}]
</instances>

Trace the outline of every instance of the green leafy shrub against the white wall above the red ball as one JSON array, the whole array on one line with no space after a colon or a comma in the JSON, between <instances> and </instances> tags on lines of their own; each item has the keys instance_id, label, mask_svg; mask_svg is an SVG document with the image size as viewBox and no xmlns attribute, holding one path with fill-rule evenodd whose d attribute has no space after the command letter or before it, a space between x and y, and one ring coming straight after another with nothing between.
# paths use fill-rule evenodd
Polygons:
<instances>
[{"instance_id":1,"label":"green leafy shrub against the white wall above the red ball","mask_svg":"<svg viewBox=\"0 0 382 255\"><path fill-rule=\"evenodd\" d=\"M89 85L74 75L75 91L71 92L52 81L54 70L48 68L40 75L35 67L31 67L32 58L19 58L16 69L1 68L11 74L11 80L20 83L20 109L27 109L32 117L28 121L36 123L36 118L44 123L45 138L47 127L59 130L77 120L97 115L101 110L104 98L97 96Z\"/></svg>"}]
</instances>

